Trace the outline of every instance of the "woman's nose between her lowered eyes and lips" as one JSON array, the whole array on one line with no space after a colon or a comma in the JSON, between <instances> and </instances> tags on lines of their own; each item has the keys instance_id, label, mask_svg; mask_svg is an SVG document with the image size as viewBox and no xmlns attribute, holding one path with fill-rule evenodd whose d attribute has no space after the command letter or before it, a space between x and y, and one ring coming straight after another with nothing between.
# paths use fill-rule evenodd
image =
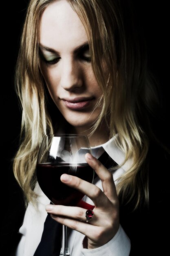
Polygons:
<instances>
[{"instance_id":1,"label":"woman's nose between her lowered eyes and lips","mask_svg":"<svg viewBox=\"0 0 170 256\"><path fill-rule=\"evenodd\" d=\"M73 91L81 88L83 78L80 65L74 60L63 61L60 85L66 91Z\"/></svg>"}]
</instances>

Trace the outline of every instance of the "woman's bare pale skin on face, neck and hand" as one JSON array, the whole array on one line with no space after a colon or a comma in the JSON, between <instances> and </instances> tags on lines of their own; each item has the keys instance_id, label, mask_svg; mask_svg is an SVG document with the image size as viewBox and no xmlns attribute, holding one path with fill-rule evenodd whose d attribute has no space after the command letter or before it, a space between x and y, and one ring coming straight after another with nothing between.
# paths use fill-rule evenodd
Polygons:
<instances>
[{"instance_id":1,"label":"woman's bare pale skin on face, neck and hand","mask_svg":"<svg viewBox=\"0 0 170 256\"><path fill-rule=\"evenodd\" d=\"M53 101L75 132L85 133L93 126L101 111L100 108L93 109L102 91L93 74L89 50L77 53L77 48L87 44L88 38L79 17L65 0L56 1L44 10L39 43L42 52L41 71ZM53 52L45 49L47 47ZM53 60L53 64L46 62L49 60ZM54 60L57 62L54 63ZM88 97L91 101L85 108L69 109L63 98L76 97ZM99 145L107 140L106 125L103 124L91 137L90 144ZM84 234L86 247L94 249L106 244L117 233L119 201L112 173L90 154L86 154L86 161L102 180L103 191L72 175L62 175L61 181L91 198L95 205L93 218L86 223L86 209L80 207L50 204L46 206L46 211L57 222Z\"/></svg>"}]
</instances>

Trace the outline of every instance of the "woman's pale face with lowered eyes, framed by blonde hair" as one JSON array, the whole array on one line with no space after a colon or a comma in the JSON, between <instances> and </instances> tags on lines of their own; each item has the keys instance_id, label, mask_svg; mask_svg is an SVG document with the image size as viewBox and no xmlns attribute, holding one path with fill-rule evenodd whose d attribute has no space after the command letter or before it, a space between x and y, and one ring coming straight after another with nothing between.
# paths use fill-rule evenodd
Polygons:
<instances>
[{"instance_id":1,"label":"woman's pale face with lowered eyes, framed by blonde hair","mask_svg":"<svg viewBox=\"0 0 170 256\"><path fill-rule=\"evenodd\" d=\"M42 75L57 108L75 128L91 127L101 112L95 105L102 91L93 74L84 26L65 0L44 10L39 46Z\"/></svg>"}]
</instances>

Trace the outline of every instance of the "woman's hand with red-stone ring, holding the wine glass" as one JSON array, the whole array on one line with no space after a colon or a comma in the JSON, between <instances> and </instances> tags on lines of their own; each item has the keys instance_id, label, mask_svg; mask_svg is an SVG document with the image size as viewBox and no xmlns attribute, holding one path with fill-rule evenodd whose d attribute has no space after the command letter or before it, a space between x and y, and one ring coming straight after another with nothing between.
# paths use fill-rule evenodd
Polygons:
<instances>
[{"instance_id":1,"label":"woman's hand with red-stone ring, holding the wine glass","mask_svg":"<svg viewBox=\"0 0 170 256\"><path fill-rule=\"evenodd\" d=\"M60 179L64 184L91 198L95 204L93 218L86 223L86 209L80 207L50 204L46 207L46 211L51 213L51 217L57 222L84 234L87 237L87 248L94 249L106 244L117 233L119 201L112 173L89 153L86 154L86 161L101 179L104 191L72 175L63 174Z\"/></svg>"}]
</instances>

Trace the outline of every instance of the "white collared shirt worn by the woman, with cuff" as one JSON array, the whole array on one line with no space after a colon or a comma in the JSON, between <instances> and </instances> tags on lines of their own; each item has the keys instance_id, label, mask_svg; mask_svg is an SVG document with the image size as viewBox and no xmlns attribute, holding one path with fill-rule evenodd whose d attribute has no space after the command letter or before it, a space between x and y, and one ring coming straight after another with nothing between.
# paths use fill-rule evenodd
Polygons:
<instances>
[{"instance_id":1,"label":"white collared shirt worn by the woman, with cuff","mask_svg":"<svg viewBox=\"0 0 170 256\"><path fill-rule=\"evenodd\" d=\"M125 156L117 148L115 137L105 144L92 148L92 153L95 157L98 158L102 154L102 147L117 164L120 165L124 162ZM121 168L113 172L115 184L117 183L117 178L130 167L130 164L129 160ZM102 182L98 178L94 180L93 184L102 189ZM30 202L26 209L24 222L19 230L22 238L18 245L16 256L33 256L42 237L44 222L47 216L45 206L50 203L50 200L44 195L38 183L35 186L35 192L40 195L37 208ZM85 197L84 201L93 204L88 197ZM75 230L71 231L68 237L68 248L71 256L128 256L130 254L130 240L121 225L115 236L108 243L95 249L83 248L82 242L84 237L83 234Z\"/></svg>"}]
</instances>

